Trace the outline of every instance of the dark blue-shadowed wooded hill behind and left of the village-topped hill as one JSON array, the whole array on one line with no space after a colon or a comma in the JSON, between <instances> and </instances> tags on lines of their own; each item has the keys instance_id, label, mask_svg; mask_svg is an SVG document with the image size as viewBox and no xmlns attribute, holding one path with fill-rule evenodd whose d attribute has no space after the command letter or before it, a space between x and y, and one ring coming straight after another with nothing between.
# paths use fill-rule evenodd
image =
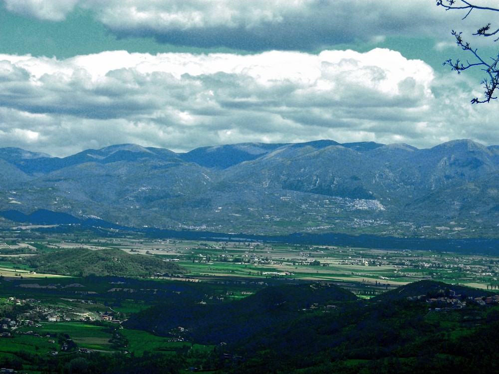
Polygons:
<instances>
[{"instance_id":1,"label":"dark blue-shadowed wooded hill behind and left of the village-topped hill","mask_svg":"<svg viewBox=\"0 0 499 374\"><path fill-rule=\"evenodd\" d=\"M133 316L125 326L161 336L168 336L170 330L178 326L189 326L196 342L235 344L297 318L300 311L314 304L324 307L347 300L356 300L356 296L334 285L272 286L230 303L210 300L193 303L179 298Z\"/></svg>"}]
</instances>

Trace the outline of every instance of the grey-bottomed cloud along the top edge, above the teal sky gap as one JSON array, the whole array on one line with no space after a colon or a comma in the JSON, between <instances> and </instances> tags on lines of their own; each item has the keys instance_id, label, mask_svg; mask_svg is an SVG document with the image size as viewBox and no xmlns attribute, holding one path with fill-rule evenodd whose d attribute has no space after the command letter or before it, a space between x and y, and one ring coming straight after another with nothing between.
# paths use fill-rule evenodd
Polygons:
<instances>
[{"instance_id":1,"label":"grey-bottomed cloud along the top edge, above the teal sky gap","mask_svg":"<svg viewBox=\"0 0 499 374\"><path fill-rule=\"evenodd\" d=\"M434 35L445 21L429 0L3 0L12 12L60 20L87 9L120 37L152 36L176 45L246 50L316 50L376 42L386 35ZM462 16L462 15L461 15ZM376 34L373 34L375 30Z\"/></svg>"}]
</instances>

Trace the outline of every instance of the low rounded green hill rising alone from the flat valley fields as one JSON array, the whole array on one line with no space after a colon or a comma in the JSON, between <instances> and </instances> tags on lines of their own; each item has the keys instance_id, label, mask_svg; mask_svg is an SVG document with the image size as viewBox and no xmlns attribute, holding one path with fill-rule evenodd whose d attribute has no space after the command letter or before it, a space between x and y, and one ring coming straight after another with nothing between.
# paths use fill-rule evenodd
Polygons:
<instances>
[{"instance_id":1,"label":"low rounded green hill rising alone from the flat valley fields","mask_svg":"<svg viewBox=\"0 0 499 374\"><path fill-rule=\"evenodd\" d=\"M155 274L183 274L177 264L141 254L129 254L121 249L63 249L57 252L28 256L30 267L38 273L71 276L150 277Z\"/></svg>"}]
</instances>

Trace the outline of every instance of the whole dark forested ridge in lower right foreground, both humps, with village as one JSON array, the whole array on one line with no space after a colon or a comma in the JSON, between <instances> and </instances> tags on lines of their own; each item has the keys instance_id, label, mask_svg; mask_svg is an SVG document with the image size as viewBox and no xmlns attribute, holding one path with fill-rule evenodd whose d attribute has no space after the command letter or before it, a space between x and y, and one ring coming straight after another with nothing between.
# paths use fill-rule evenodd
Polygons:
<instances>
[{"instance_id":1,"label":"whole dark forested ridge in lower right foreground, both humps, with village","mask_svg":"<svg viewBox=\"0 0 499 374\"><path fill-rule=\"evenodd\" d=\"M433 281L371 300L332 285L279 286L228 305L158 305L126 327L168 336L182 326L218 345L220 373L464 373L496 366L499 307L474 301L488 295Z\"/></svg>"}]
</instances>

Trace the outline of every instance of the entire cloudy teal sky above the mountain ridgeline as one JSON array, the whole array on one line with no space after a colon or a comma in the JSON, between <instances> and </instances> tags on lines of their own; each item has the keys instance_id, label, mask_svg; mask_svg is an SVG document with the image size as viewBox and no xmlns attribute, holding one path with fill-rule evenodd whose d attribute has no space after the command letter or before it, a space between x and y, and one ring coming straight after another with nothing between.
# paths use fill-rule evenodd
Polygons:
<instances>
[{"instance_id":1,"label":"entire cloudy teal sky above the mountain ridgeline","mask_svg":"<svg viewBox=\"0 0 499 374\"><path fill-rule=\"evenodd\" d=\"M480 1L497 3L497 1ZM435 0L0 0L0 147L65 157L331 139L499 145L499 100ZM496 22L497 23L497 22Z\"/></svg>"}]
</instances>

